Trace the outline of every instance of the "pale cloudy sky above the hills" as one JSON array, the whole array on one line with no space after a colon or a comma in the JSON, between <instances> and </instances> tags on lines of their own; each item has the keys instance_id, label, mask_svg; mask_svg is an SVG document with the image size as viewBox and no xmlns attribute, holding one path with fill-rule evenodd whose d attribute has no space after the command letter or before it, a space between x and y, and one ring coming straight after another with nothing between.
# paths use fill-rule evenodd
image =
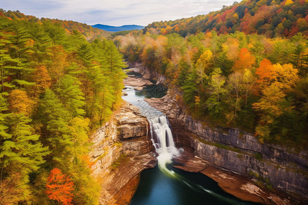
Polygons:
<instances>
[{"instance_id":1,"label":"pale cloudy sky above the hills","mask_svg":"<svg viewBox=\"0 0 308 205\"><path fill-rule=\"evenodd\" d=\"M1 0L3 10L88 25L148 25L208 14L235 0Z\"/></svg>"}]
</instances>

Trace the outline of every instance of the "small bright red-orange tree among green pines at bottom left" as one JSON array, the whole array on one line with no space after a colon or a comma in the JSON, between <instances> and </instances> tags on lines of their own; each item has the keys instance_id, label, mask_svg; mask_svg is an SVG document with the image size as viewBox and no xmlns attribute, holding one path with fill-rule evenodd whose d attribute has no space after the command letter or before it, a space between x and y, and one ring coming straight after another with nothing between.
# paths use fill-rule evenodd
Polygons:
<instances>
[{"instance_id":1,"label":"small bright red-orange tree among green pines at bottom left","mask_svg":"<svg viewBox=\"0 0 308 205\"><path fill-rule=\"evenodd\" d=\"M47 178L46 193L50 200L72 204L74 183L60 169L53 168Z\"/></svg>"}]
</instances>

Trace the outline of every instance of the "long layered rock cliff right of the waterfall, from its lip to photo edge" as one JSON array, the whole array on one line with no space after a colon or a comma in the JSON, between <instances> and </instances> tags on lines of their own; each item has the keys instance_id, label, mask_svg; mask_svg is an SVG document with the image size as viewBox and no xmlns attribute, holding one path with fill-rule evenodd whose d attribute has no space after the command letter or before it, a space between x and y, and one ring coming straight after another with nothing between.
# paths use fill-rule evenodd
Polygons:
<instances>
[{"instance_id":1,"label":"long layered rock cliff right of the waterfall, from its lip to photo edge","mask_svg":"<svg viewBox=\"0 0 308 205\"><path fill-rule=\"evenodd\" d=\"M210 128L206 122L193 120L168 94L162 99L147 99L166 115L172 124L177 147L190 149L206 163L227 169L283 191L307 202L308 154L277 145L262 144L251 133L235 128ZM296 198L296 197L295 197Z\"/></svg>"}]
</instances>

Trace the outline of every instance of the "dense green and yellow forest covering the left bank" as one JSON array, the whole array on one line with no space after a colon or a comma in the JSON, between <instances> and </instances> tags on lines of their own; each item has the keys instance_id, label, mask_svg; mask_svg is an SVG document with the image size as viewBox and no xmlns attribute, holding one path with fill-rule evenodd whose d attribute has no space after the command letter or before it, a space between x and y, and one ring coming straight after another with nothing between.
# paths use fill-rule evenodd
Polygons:
<instances>
[{"instance_id":1,"label":"dense green and yellow forest covering the left bank","mask_svg":"<svg viewBox=\"0 0 308 205\"><path fill-rule=\"evenodd\" d=\"M98 204L89 136L120 104L123 67L112 40L0 16L0 204Z\"/></svg>"}]
</instances>

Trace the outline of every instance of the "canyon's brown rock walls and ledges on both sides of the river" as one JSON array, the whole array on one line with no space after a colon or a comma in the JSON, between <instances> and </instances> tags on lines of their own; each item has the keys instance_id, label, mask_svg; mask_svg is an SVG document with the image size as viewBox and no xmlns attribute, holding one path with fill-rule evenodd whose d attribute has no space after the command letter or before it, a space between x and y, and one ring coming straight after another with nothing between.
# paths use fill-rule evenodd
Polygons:
<instances>
[{"instance_id":1,"label":"canyon's brown rock walls and ledges on both sides of the river","mask_svg":"<svg viewBox=\"0 0 308 205\"><path fill-rule=\"evenodd\" d=\"M164 77L147 70L129 75L125 85L142 90ZM260 143L251 133L237 128L212 127L194 120L179 106L177 90L169 90L163 98L145 101L168 116L181 156L174 167L186 172L201 172L242 200L262 204L302 204L307 202L307 152ZM138 187L143 169L155 167L155 149L149 137L149 122L138 107L123 102L110 122L102 126L92 139L90 156L94 176L101 179L101 204L129 204Z\"/></svg>"}]
</instances>

